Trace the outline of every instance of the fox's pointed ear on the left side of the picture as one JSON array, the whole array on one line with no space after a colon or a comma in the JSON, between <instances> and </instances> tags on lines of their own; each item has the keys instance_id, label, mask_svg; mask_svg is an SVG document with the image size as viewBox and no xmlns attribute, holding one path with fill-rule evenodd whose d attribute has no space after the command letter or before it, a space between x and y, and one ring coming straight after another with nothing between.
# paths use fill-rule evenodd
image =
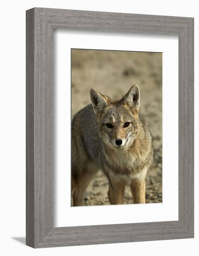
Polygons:
<instances>
[{"instance_id":1,"label":"fox's pointed ear on the left side of the picture","mask_svg":"<svg viewBox=\"0 0 199 256\"><path fill-rule=\"evenodd\" d=\"M108 97L100 94L95 88L90 90L90 97L95 113L102 111L108 105L110 100Z\"/></svg>"}]
</instances>

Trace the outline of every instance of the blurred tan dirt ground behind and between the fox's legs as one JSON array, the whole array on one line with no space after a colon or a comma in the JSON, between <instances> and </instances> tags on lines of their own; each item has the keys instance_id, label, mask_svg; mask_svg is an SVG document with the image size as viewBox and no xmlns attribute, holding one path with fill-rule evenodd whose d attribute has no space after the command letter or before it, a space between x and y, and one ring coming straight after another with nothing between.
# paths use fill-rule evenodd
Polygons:
<instances>
[{"instance_id":1,"label":"blurred tan dirt ground behind and between the fox's legs","mask_svg":"<svg viewBox=\"0 0 199 256\"><path fill-rule=\"evenodd\" d=\"M126 94L133 84L140 89L139 116L153 136L154 161L146 177L146 203L162 202L162 54L146 52L73 49L72 115L90 104L90 88L113 100ZM90 183L85 205L109 204L108 180L99 171ZM129 187L124 203L133 203Z\"/></svg>"}]
</instances>

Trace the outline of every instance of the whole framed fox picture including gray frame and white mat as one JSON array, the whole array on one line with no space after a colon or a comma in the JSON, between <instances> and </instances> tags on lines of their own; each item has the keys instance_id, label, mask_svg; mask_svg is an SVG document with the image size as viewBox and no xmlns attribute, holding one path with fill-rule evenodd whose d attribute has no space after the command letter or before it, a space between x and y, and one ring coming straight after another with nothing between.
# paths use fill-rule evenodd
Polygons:
<instances>
[{"instance_id":1,"label":"whole framed fox picture including gray frame and white mat","mask_svg":"<svg viewBox=\"0 0 199 256\"><path fill-rule=\"evenodd\" d=\"M192 238L193 206L193 18L27 10L27 245Z\"/></svg>"}]
</instances>

